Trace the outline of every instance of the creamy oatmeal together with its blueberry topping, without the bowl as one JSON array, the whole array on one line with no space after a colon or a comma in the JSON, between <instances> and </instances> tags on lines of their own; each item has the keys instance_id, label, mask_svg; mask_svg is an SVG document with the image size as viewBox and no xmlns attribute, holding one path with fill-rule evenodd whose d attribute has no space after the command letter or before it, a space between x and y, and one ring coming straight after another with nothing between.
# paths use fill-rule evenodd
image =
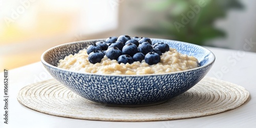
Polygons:
<instances>
[{"instance_id":1,"label":"creamy oatmeal together with its blueberry topping, without the bowl","mask_svg":"<svg viewBox=\"0 0 256 128\"><path fill-rule=\"evenodd\" d=\"M141 75L199 67L197 58L147 37L112 36L59 60L58 67L96 74Z\"/></svg>"}]
</instances>

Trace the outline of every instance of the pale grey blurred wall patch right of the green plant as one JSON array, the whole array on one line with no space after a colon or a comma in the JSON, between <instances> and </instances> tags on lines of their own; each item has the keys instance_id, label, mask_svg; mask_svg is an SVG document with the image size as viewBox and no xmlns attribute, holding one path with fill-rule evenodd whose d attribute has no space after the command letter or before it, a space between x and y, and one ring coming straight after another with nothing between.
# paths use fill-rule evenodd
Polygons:
<instances>
[{"instance_id":1,"label":"pale grey blurred wall patch right of the green plant","mask_svg":"<svg viewBox=\"0 0 256 128\"><path fill-rule=\"evenodd\" d=\"M245 44L254 44L252 47L246 45L246 49L256 52L256 1L241 1L244 10L232 10L225 19L216 22L216 26L222 28L226 38L211 40L210 43L216 47L243 50ZM252 42L248 42L252 40Z\"/></svg>"}]
</instances>

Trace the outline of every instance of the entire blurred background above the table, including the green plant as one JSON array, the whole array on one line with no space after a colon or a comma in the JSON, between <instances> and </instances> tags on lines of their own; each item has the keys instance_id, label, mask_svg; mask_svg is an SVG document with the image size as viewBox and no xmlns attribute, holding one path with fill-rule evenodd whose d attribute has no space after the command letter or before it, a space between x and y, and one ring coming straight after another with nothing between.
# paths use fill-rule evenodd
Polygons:
<instances>
[{"instance_id":1,"label":"entire blurred background above the table, including the green plant","mask_svg":"<svg viewBox=\"0 0 256 128\"><path fill-rule=\"evenodd\" d=\"M0 0L0 68L71 41L122 34L256 52L253 0Z\"/></svg>"}]
</instances>

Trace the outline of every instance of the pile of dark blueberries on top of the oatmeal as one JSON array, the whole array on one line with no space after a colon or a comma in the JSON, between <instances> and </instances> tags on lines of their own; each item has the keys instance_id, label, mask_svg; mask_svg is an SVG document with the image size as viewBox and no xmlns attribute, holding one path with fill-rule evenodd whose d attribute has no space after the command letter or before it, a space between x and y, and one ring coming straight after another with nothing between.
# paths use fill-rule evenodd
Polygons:
<instances>
[{"instance_id":1,"label":"pile of dark blueberries on top of the oatmeal","mask_svg":"<svg viewBox=\"0 0 256 128\"><path fill-rule=\"evenodd\" d=\"M100 62L106 55L110 59L117 60L118 63L131 64L144 59L148 65L154 65L160 62L160 55L166 51L169 51L169 46L164 42L152 43L147 37L131 38L127 35L112 36L87 48L91 63Z\"/></svg>"}]
</instances>

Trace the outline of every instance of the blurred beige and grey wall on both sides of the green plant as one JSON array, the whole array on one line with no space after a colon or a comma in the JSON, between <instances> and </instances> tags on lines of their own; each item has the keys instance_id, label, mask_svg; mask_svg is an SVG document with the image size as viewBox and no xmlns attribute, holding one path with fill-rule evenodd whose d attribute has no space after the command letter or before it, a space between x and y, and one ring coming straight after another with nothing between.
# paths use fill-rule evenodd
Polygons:
<instances>
[{"instance_id":1,"label":"blurred beige and grey wall on both sides of the green plant","mask_svg":"<svg viewBox=\"0 0 256 128\"><path fill-rule=\"evenodd\" d=\"M153 0L151 2L157 2ZM202 0L204 1L204 0ZM224 1L223 1L224 2ZM219 18L215 22L215 27L223 30L225 37L211 39L205 42L207 46L243 50L245 44L253 44L246 51L256 52L256 1L239 1L243 9L230 9L226 17ZM118 33L127 33L132 36L147 36L156 38L169 38L165 35L156 35L135 31L139 27L154 27L159 24L159 20L165 18L164 13L153 11L145 7L146 0L122 1L120 3L119 28ZM194 6L194 5L191 5ZM248 42L249 41L249 42Z\"/></svg>"}]
</instances>

